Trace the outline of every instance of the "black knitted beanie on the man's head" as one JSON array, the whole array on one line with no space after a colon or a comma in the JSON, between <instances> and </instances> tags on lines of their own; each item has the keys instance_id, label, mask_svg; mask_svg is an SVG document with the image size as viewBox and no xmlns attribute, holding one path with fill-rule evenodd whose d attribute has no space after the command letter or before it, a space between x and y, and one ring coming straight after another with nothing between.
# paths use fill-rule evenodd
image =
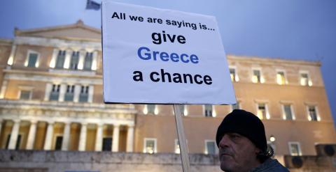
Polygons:
<instances>
[{"instance_id":1,"label":"black knitted beanie on the man's head","mask_svg":"<svg viewBox=\"0 0 336 172\"><path fill-rule=\"evenodd\" d=\"M260 148L262 151L267 150L265 127L261 120L251 112L235 109L228 116L225 116L216 134L218 147L222 137L228 132L235 132L246 136L257 148Z\"/></svg>"}]
</instances>

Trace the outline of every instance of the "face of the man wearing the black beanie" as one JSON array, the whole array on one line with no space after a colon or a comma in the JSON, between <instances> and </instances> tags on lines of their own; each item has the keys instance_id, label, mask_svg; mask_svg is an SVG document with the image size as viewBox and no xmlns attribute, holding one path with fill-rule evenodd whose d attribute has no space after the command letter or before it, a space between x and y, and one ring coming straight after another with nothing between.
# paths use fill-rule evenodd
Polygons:
<instances>
[{"instance_id":1,"label":"face of the man wearing the black beanie","mask_svg":"<svg viewBox=\"0 0 336 172\"><path fill-rule=\"evenodd\" d=\"M219 142L221 169L223 171L248 171L258 166L256 153L259 151L245 136L226 133Z\"/></svg>"}]
</instances>

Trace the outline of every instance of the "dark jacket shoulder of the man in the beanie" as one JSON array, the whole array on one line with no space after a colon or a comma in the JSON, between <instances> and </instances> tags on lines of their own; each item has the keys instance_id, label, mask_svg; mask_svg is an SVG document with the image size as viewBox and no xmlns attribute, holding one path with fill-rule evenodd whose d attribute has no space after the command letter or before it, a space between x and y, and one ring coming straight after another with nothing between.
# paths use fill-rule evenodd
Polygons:
<instances>
[{"instance_id":1,"label":"dark jacket shoulder of the man in the beanie","mask_svg":"<svg viewBox=\"0 0 336 172\"><path fill-rule=\"evenodd\" d=\"M251 171L248 172L265 172L265 171L272 171L272 172L287 172L288 169L282 166L278 160L276 159L267 159L264 163L260 164L260 166L255 167Z\"/></svg>"}]
</instances>

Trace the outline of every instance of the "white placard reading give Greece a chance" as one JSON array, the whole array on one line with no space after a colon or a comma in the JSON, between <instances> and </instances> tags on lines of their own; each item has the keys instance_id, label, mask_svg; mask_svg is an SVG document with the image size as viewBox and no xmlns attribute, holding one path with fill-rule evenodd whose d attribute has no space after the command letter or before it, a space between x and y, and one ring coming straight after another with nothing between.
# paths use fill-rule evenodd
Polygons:
<instances>
[{"instance_id":1,"label":"white placard reading give Greece a chance","mask_svg":"<svg viewBox=\"0 0 336 172\"><path fill-rule=\"evenodd\" d=\"M104 102L235 104L216 18L102 1Z\"/></svg>"}]
</instances>

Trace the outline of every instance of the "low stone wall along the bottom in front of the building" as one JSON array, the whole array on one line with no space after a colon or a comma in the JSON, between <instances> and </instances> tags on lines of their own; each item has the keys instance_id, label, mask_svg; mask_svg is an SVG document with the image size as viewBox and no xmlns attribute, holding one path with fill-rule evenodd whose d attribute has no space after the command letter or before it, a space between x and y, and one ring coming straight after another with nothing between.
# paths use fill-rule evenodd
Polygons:
<instances>
[{"instance_id":1,"label":"low stone wall along the bottom in front of the building","mask_svg":"<svg viewBox=\"0 0 336 172\"><path fill-rule=\"evenodd\" d=\"M190 171L220 172L217 155L190 154ZM279 157L281 158L281 157ZM285 156L294 172L336 171L336 157ZM293 158L295 158L293 163ZM298 159L297 159L298 158ZM180 172L181 157L172 153L111 153L0 150L0 172Z\"/></svg>"}]
</instances>

